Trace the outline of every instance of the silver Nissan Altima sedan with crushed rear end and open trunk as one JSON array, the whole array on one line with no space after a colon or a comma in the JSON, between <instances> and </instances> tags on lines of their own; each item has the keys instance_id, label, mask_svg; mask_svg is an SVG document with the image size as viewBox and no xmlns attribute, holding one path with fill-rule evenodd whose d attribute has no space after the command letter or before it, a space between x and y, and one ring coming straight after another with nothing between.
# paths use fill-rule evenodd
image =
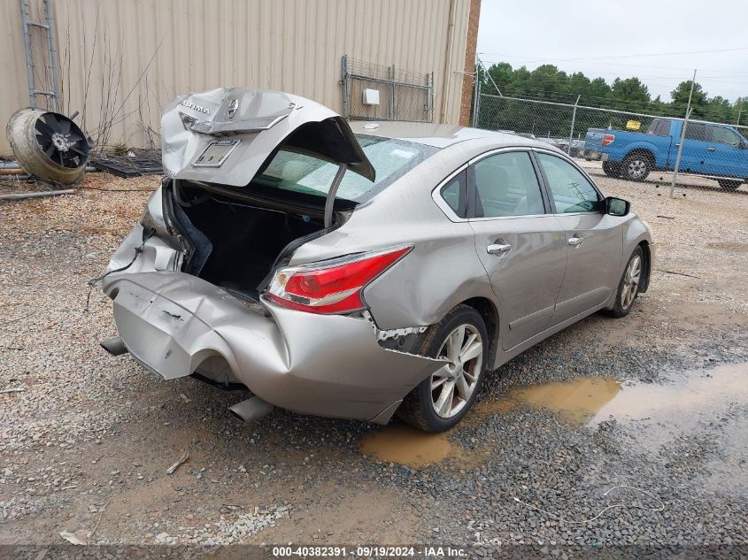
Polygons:
<instances>
[{"instance_id":1,"label":"silver Nissan Altima sedan with crushed rear end and open trunk","mask_svg":"<svg viewBox=\"0 0 748 560\"><path fill-rule=\"evenodd\" d=\"M166 178L104 292L167 380L438 432L487 372L649 285L649 227L574 161L513 134L349 124L289 94L220 88L162 120Z\"/></svg>"}]
</instances>

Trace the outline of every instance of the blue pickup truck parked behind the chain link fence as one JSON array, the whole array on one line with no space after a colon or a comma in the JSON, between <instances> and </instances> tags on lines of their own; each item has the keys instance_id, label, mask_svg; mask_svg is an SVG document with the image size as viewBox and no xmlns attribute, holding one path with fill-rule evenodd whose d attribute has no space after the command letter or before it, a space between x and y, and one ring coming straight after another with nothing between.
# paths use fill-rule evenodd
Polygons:
<instances>
[{"instance_id":1,"label":"blue pickup truck parked behind the chain link fence","mask_svg":"<svg viewBox=\"0 0 748 560\"><path fill-rule=\"evenodd\" d=\"M675 168L682 126L680 119L653 119L646 133L590 128L582 157L602 160L610 177L645 180L652 170ZM689 122L678 173L705 175L735 190L748 182L748 140L727 125Z\"/></svg>"}]
</instances>

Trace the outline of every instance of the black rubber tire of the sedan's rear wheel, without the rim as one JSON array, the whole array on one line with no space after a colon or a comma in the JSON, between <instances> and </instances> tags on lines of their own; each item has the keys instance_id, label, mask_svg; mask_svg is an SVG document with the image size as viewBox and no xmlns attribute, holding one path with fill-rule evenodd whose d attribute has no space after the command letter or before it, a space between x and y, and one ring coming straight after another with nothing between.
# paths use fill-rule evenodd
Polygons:
<instances>
[{"instance_id":1,"label":"black rubber tire of the sedan's rear wheel, without the rim","mask_svg":"<svg viewBox=\"0 0 748 560\"><path fill-rule=\"evenodd\" d=\"M420 428L424 432L444 432L449 430L451 427L456 426L457 423L467 414L467 410L469 410L473 405L475 398L481 390L483 377L489 359L488 349L490 341L481 314L478 311L475 311L472 307L458 305L447 313L438 325L429 327L420 343L420 351L418 353L428 357L437 357L439 350L442 349L449 335L459 326L472 326L481 336L482 359L479 371L476 372L477 380L475 381L473 391L467 401L465 401L465 404L462 405L459 412L450 418L443 418L436 414L436 410L434 410L431 387L433 376L428 376L427 379L421 381L420 384L405 397L403 403L397 409L397 417L411 426Z\"/></svg>"}]
</instances>

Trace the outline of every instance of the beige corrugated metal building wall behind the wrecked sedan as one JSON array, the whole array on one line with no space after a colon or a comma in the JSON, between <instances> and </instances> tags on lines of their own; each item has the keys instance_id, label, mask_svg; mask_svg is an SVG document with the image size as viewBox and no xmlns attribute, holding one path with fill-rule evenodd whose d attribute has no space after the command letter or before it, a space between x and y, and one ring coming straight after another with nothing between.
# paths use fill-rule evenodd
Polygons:
<instances>
[{"instance_id":1,"label":"beige corrugated metal building wall behind the wrecked sedan","mask_svg":"<svg viewBox=\"0 0 748 560\"><path fill-rule=\"evenodd\" d=\"M43 21L42 0L25 2L30 19ZM0 4L4 129L13 111L29 105L29 94L19 0ZM433 80L428 119L457 123L469 114L473 80L466 72L474 71L480 0L65 0L51 5L61 110L80 111L76 121L109 146L158 144L166 100L221 86L283 89L343 112L344 55L359 67L394 65L393 76L428 76ZM37 87L49 88L44 31L32 28L30 35ZM39 105L46 103L41 97ZM9 153L3 134L0 155Z\"/></svg>"}]
</instances>

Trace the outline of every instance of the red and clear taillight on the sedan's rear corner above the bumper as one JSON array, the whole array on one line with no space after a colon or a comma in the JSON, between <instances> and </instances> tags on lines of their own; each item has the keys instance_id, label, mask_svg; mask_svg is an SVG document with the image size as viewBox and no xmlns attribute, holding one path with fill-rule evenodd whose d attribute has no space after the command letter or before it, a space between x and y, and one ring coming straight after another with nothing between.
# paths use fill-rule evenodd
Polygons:
<instances>
[{"instance_id":1,"label":"red and clear taillight on the sedan's rear corner above the bumper","mask_svg":"<svg viewBox=\"0 0 748 560\"><path fill-rule=\"evenodd\" d=\"M274 303L310 313L347 313L366 308L361 291L413 249L412 245L281 268L268 297Z\"/></svg>"}]
</instances>

